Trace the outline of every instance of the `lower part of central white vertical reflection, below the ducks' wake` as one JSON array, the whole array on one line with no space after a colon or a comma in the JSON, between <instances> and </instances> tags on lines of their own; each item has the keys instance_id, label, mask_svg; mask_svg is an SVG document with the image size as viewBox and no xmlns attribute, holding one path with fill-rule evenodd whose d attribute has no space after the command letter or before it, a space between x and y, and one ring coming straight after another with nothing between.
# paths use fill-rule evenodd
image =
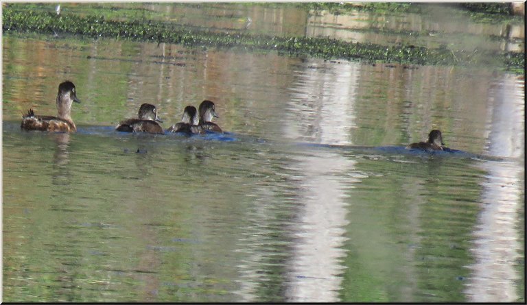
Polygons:
<instances>
[{"instance_id":1,"label":"lower part of central white vertical reflection, below the ducks' wake","mask_svg":"<svg viewBox=\"0 0 527 305\"><path fill-rule=\"evenodd\" d=\"M298 208L298 225L294 228L294 245L289 267L288 302L339 302L342 260L347 255L347 175L355 161L334 153L299 157L302 171ZM351 181L357 180L357 181Z\"/></svg>"}]
</instances>

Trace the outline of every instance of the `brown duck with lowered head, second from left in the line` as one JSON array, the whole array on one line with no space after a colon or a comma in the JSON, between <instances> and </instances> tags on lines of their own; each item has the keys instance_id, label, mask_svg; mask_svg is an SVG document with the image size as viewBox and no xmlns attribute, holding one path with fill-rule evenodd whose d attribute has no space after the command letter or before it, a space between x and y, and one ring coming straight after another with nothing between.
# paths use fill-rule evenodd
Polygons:
<instances>
[{"instance_id":1,"label":"brown duck with lowered head, second from left in the line","mask_svg":"<svg viewBox=\"0 0 527 305\"><path fill-rule=\"evenodd\" d=\"M143 103L139 107L137 114L139 119L126 119L121 121L115 130L118 132L147 132L150 134L165 134L163 128L156 123L163 122L163 120L157 115L156 106L150 103Z\"/></svg>"}]
</instances>

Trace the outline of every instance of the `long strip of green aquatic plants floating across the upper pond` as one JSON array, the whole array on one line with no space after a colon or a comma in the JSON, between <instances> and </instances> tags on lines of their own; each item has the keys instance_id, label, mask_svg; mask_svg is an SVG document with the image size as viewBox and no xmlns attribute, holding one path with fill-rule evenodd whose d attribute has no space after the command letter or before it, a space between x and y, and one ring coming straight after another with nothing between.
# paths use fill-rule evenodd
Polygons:
<instances>
[{"instance_id":1,"label":"long strip of green aquatic plants floating across the upper pond","mask_svg":"<svg viewBox=\"0 0 527 305\"><path fill-rule=\"evenodd\" d=\"M338 3L336 3L338 4ZM335 5L336 5L335 4ZM329 5L329 4L328 4ZM501 60L508 69L524 66L524 58L515 53L482 51L478 56L446 47L428 48L401 44L384 46L353 43L331 38L279 37L242 32L211 32L190 29L174 23L150 20L115 21L103 16L55 14L36 10L3 9L4 32L73 34L91 38L115 38L167 42L189 47L242 48L253 51L278 51L290 56L314 56L325 59L401 62L410 64L466 65ZM511 60L512 58L512 60Z\"/></svg>"}]
</instances>

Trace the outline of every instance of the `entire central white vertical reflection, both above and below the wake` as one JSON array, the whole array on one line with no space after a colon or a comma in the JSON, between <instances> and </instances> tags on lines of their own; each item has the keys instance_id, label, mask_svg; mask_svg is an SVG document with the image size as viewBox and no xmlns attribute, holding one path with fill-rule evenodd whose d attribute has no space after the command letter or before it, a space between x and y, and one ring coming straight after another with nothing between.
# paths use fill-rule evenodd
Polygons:
<instances>
[{"instance_id":1,"label":"entire central white vertical reflection, both above and below the wake","mask_svg":"<svg viewBox=\"0 0 527 305\"><path fill-rule=\"evenodd\" d=\"M317 66L318 62L320 66ZM306 62L289 102L287 138L348 144L358 81L357 64ZM337 302L347 221L346 189L355 161L339 152L309 149L297 154L298 219L285 297L288 302ZM358 179L355 179L358 180Z\"/></svg>"}]
</instances>

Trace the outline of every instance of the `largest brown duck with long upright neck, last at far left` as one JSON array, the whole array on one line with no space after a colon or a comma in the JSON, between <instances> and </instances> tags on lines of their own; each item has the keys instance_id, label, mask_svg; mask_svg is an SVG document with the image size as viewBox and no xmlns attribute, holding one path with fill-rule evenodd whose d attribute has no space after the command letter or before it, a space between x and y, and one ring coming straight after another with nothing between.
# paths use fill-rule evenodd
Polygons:
<instances>
[{"instance_id":1,"label":"largest brown duck with long upright neck, last at far left","mask_svg":"<svg viewBox=\"0 0 527 305\"><path fill-rule=\"evenodd\" d=\"M75 85L69 80L58 85L57 116L36 115L33 109L22 116L20 125L23 130L40 130L48 132L76 132L77 126L71 119L71 105L80 103L75 92Z\"/></svg>"}]
</instances>

